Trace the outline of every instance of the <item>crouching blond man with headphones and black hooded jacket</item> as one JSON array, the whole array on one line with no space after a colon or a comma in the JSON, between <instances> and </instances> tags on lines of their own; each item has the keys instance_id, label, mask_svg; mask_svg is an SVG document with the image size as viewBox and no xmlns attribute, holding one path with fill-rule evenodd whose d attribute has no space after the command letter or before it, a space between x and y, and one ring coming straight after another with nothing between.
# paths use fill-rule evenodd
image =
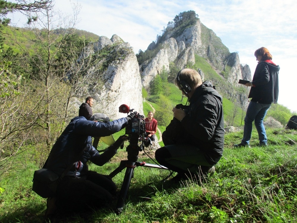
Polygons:
<instances>
[{"instance_id":1,"label":"crouching blond man with headphones and black hooded jacket","mask_svg":"<svg viewBox=\"0 0 297 223\"><path fill-rule=\"evenodd\" d=\"M187 109L176 107L172 109L174 118L171 123L176 119L178 132L183 135L179 135L178 140L163 140L164 145L165 142L174 144L157 149L155 158L159 164L177 172L173 181L187 179L199 181L207 173L214 172L214 165L222 157L224 147L222 96L211 82L202 83L199 73L193 69L186 68L179 71L174 82L189 99ZM167 134L164 136L170 137Z\"/></svg>"}]
</instances>

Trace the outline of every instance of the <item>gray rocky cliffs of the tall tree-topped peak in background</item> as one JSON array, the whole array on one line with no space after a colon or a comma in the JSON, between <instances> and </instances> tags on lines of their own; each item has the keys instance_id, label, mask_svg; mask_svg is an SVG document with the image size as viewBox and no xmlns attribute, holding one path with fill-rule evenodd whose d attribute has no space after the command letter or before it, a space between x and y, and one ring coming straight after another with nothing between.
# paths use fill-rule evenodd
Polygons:
<instances>
[{"instance_id":1,"label":"gray rocky cliffs of the tall tree-topped peak in background","mask_svg":"<svg viewBox=\"0 0 297 223\"><path fill-rule=\"evenodd\" d=\"M173 29L162 37L162 49L149 61L144 62L141 67L141 82L143 87L149 88L151 81L162 71L163 66L169 69L169 63L174 62L178 69L186 65L195 64L195 54L206 59L212 68L228 83L227 86L217 86L229 94L230 98L236 98L241 108L245 109L248 104L247 89L244 92L234 91L234 87L243 87L238 84L239 79L251 80L251 71L248 65L241 65L238 53L229 52L221 39L211 30L204 26L200 20L195 25L184 29L182 32ZM154 42L153 42L154 43ZM155 49L156 45L151 43L148 49ZM204 74L198 67L202 79Z\"/></svg>"}]
</instances>

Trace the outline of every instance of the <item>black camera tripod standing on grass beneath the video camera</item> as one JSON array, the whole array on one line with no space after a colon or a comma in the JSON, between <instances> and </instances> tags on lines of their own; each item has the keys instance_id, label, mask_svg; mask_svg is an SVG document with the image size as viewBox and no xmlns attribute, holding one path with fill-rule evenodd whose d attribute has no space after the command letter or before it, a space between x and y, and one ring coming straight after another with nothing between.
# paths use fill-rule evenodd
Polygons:
<instances>
[{"instance_id":1,"label":"black camera tripod standing on grass beneath the video camera","mask_svg":"<svg viewBox=\"0 0 297 223\"><path fill-rule=\"evenodd\" d=\"M113 172L109 174L110 178L113 178L119 172L126 168L124 180L122 183L121 191L119 194L118 203L116 205L115 212L120 214L123 211L124 203L128 194L131 178L134 177L134 168L135 167L153 167L159 169L168 169L167 167L157 165L157 164L147 164L146 162L138 162L139 151L142 151L142 148L138 146L138 137L137 139L130 139L130 144L127 146L128 160L122 160L119 167L117 167Z\"/></svg>"}]
</instances>

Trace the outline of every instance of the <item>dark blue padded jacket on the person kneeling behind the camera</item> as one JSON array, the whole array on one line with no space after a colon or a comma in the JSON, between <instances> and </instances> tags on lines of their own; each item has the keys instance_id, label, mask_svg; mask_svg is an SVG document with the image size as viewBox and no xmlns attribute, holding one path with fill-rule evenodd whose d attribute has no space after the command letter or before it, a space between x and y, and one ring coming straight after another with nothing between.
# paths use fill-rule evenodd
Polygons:
<instances>
[{"instance_id":1,"label":"dark blue padded jacket on the person kneeling behind the camera","mask_svg":"<svg viewBox=\"0 0 297 223\"><path fill-rule=\"evenodd\" d=\"M53 145L44 168L60 176L67 167L81 160L82 156L98 156L98 151L92 147L92 136L109 136L126 127L127 123L127 118L107 123L89 121L82 116L73 118ZM100 160L96 160L98 157L85 158L94 161L95 164L100 163Z\"/></svg>"}]
</instances>

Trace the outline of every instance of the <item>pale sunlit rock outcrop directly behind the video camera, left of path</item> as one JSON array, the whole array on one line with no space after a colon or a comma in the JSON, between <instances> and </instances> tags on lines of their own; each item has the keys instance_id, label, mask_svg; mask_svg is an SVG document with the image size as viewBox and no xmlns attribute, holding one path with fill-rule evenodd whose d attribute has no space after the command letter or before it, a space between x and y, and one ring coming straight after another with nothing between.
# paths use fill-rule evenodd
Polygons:
<instances>
[{"instance_id":1,"label":"pale sunlit rock outcrop directly behind the video camera, left of path","mask_svg":"<svg viewBox=\"0 0 297 223\"><path fill-rule=\"evenodd\" d=\"M104 73L105 84L103 89L95 93L97 108L104 110L105 114L113 119L126 117L127 114L119 113L119 106L126 104L130 109L135 109L143 114L141 80L136 56L129 54L121 63L113 63Z\"/></svg>"}]
</instances>

